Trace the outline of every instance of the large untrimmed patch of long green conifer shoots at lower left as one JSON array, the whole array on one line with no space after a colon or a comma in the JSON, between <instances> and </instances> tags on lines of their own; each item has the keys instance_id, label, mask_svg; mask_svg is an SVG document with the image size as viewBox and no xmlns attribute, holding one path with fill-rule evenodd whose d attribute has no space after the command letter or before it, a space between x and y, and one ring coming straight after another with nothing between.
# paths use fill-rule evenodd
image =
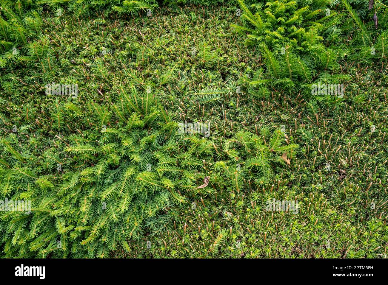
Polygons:
<instances>
[{"instance_id":1,"label":"large untrimmed patch of long green conifer shoots at lower left","mask_svg":"<svg viewBox=\"0 0 388 285\"><path fill-rule=\"evenodd\" d=\"M31 214L2 215L7 256L108 257L128 249L130 240L162 231L169 209L190 197L244 191L247 181L264 184L273 175L271 163L297 148L282 145L280 130L267 144L237 132L223 146L180 134L148 88L123 90L111 106L90 101L85 108L54 101L52 130L76 132L43 147L42 132L27 125L1 140L1 195L31 200ZM209 184L198 187L205 177Z\"/></svg>"}]
</instances>

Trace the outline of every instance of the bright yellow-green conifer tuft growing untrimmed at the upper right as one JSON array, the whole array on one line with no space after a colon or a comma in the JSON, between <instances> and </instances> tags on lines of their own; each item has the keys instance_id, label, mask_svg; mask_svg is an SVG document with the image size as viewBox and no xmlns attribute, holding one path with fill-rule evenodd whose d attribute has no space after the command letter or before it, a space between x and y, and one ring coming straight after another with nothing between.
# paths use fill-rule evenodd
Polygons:
<instances>
[{"instance_id":1,"label":"bright yellow-green conifer tuft growing untrimmed at the upper right","mask_svg":"<svg viewBox=\"0 0 388 285\"><path fill-rule=\"evenodd\" d=\"M247 45L258 46L267 67L267 74L260 74L252 85L272 84L290 89L297 82L311 82L320 70L339 70L338 51L328 48L324 39L329 27L340 23L338 13L330 10L329 3L267 1L252 5L256 11L253 14L239 1L244 26L233 26L247 34Z\"/></svg>"}]
</instances>

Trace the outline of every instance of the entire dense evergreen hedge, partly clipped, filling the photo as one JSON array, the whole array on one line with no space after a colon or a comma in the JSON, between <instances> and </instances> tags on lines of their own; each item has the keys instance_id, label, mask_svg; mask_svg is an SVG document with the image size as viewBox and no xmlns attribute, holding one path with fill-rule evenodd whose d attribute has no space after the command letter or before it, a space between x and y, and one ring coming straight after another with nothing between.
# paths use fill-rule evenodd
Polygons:
<instances>
[{"instance_id":1,"label":"entire dense evergreen hedge, partly clipped, filling the photo","mask_svg":"<svg viewBox=\"0 0 388 285\"><path fill-rule=\"evenodd\" d=\"M386 258L369 2L2 0L0 256Z\"/></svg>"}]
</instances>

